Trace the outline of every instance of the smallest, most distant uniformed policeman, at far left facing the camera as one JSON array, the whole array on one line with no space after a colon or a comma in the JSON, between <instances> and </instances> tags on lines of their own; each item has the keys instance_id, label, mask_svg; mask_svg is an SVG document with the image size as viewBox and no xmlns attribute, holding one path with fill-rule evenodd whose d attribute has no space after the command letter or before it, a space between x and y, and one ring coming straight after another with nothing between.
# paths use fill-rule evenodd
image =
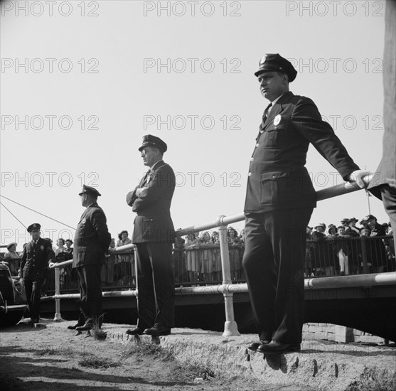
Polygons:
<instances>
[{"instance_id":1,"label":"smallest, most distant uniformed policeman, at far left facing the camera","mask_svg":"<svg viewBox=\"0 0 396 391\"><path fill-rule=\"evenodd\" d=\"M31 242L23 248L21 259L20 282L25 286L31 325L40 319L41 291L46 284L48 264L55 258L50 242L40 237L40 229L38 223L28 226Z\"/></svg>"}]
</instances>

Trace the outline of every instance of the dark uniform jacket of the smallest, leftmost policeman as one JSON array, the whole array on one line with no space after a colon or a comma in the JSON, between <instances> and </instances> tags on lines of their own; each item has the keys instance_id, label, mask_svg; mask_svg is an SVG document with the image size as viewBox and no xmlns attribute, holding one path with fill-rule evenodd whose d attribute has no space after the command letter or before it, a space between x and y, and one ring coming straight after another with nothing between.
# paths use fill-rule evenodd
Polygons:
<instances>
[{"instance_id":1,"label":"dark uniform jacket of the smallest, leftmost policeman","mask_svg":"<svg viewBox=\"0 0 396 391\"><path fill-rule=\"evenodd\" d=\"M36 245L34 241L28 242L23 250L21 259L21 274L24 279L38 281L45 279L48 272L50 260L55 259L52 245L49 240L38 238Z\"/></svg>"}]
</instances>

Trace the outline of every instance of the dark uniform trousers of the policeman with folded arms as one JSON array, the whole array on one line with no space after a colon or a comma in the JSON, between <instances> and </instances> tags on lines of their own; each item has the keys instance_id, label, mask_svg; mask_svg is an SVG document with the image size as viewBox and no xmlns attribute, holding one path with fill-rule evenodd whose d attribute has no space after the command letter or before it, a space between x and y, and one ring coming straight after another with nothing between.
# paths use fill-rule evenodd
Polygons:
<instances>
[{"instance_id":1,"label":"dark uniform trousers of the policeman with folded arms","mask_svg":"<svg viewBox=\"0 0 396 391\"><path fill-rule=\"evenodd\" d=\"M137 246L137 327L155 324L174 327L175 282L172 245L167 242L136 243Z\"/></svg>"}]
</instances>

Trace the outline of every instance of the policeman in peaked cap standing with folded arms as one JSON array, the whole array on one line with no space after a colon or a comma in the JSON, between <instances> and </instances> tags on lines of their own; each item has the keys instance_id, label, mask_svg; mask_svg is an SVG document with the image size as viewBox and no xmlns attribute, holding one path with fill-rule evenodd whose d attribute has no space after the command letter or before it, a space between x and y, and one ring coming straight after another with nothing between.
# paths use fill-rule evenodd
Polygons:
<instances>
[{"instance_id":1,"label":"policeman in peaked cap standing with folded arms","mask_svg":"<svg viewBox=\"0 0 396 391\"><path fill-rule=\"evenodd\" d=\"M139 147L149 171L127 194L127 204L137 213L132 242L137 246L138 321L127 334L166 336L174 326L174 276L172 243L174 227L171 200L176 178L164 163L167 146L159 137L147 134Z\"/></svg>"}]
</instances>

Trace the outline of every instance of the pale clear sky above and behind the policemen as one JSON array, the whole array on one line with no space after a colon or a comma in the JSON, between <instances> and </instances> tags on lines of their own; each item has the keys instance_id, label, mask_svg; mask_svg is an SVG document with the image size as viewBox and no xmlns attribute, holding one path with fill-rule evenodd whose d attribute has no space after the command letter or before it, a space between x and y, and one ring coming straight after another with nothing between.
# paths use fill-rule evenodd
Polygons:
<instances>
[{"instance_id":1,"label":"pale clear sky above and behind the policemen","mask_svg":"<svg viewBox=\"0 0 396 391\"><path fill-rule=\"evenodd\" d=\"M176 228L242 213L268 104L254 76L264 53L294 64L290 90L314 100L355 163L375 171L384 15L384 1L5 1L1 245L21 250L31 223L54 241L73 238L83 183L102 193L112 237L130 236L125 197L146 172L144 134L168 144ZM317 190L342 183L312 146L306 167ZM369 201L387 222L382 203ZM365 215L358 191L318 203L310 225Z\"/></svg>"}]
</instances>

